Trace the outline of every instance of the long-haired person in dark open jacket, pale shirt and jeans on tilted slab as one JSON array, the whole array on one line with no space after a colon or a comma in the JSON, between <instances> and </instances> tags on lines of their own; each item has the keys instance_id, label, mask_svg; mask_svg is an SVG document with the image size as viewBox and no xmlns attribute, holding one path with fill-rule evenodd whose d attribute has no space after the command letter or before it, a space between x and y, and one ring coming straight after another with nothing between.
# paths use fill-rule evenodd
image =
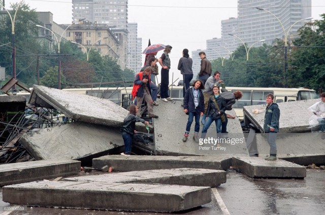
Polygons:
<instances>
[{"instance_id":1,"label":"long-haired person in dark open jacket, pale shirt and jeans on tilted slab","mask_svg":"<svg viewBox=\"0 0 325 215\"><path fill-rule=\"evenodd\" d=\"M204 97L202 93L203 89L204 86L202 81L196 80L193 83L193 86L186 90L183 108L184 108L184 112L188 115L188 119L187 119L183 142L187 141L188 134L193 122L193 118L195 118L193 140L199 143L200 116L202 116L204 112Z\"/></svg>"}]
</instances>

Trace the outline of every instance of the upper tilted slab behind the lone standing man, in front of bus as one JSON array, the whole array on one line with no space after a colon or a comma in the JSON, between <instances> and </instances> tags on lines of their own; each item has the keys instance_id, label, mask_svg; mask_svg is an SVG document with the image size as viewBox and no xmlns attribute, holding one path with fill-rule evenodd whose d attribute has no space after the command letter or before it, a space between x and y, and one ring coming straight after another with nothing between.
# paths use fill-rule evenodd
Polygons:
<instances>
[{"instance_id":1,"label":"upper tilted slab behind the lone standing man, in front of bus","mask_svg":"<svg viewBox=\"0 0 325 215\"><path fill-rule=\"evenodd\" d=\"M309 118L312 116L312 112L307 110L310 106L318 102L319 99L309 99L295 102L282 102L277 103L280 109L280 133L300 133L310 132ZM254 109L265 110L264 105L251 105L244 106L244 115L249 118L259 130L263 131L264 125L264 113L253 113Z\"/></svg>"}]
</instances>

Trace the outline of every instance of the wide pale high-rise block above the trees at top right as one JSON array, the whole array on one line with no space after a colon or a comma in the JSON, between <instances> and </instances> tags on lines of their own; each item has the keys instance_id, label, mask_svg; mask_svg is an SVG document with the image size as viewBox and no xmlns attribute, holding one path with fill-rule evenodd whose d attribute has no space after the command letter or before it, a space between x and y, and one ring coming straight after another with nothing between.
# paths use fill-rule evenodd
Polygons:
<instances>
[{"instance_id":1,"label":"wide pale high-rise block above the trees at top right","mask_svg":"<svg viewBox=\"0 0 325 215\"><path fill-rule=\"evenodd\" d=\"M260 10L256 9L259 8ZM263 10L264 9L264 10ZM271 45L275 38L284 38L290 29L288 38L297 34L297 30L310 20L297 21L311 17L311 0L238 0L238 31L233 32L248 46L265 39ZM295 24L296 23L296 24ZM238 44L242 44L239 40ZM261 46L261 43L257 44Z\"/></svg>"}]
</instances>

